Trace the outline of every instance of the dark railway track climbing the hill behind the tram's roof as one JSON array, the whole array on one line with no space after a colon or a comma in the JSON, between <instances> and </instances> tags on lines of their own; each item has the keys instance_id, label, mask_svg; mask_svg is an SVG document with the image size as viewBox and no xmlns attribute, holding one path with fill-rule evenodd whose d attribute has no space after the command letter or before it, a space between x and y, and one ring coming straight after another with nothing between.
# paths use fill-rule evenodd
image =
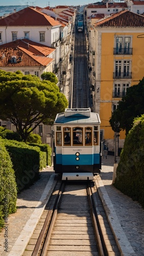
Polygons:
<instances>
[{"instance_id":1,"label":"dark railway track climbing the hill behind the tram's roof","mask_svg":"<svg viewBox=\"0 0 144 256\"><path fill-rule=\"evenodd\" d=\"M73 84L70 107L89 108L90 86L85 34L75 31Z\"/></svg>"}]
</instances>

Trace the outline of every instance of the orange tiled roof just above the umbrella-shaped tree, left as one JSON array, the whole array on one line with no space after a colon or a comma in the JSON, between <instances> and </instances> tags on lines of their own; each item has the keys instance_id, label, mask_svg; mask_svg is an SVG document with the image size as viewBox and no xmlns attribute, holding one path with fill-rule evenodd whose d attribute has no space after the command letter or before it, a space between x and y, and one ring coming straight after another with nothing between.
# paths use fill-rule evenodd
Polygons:
<instances>
[{"instance_id":1,"label":"orange tiled roof just above the umbrella-shaped tree, left","mask_svg":"<svg viewBox=\"0 0 144 256\"><path fill-rule=\"evenodd\" d=\"M47 56L54 50L28 39L12 41L0 46L0 67L47 66L53 61ZM16 56L16 63L10 61L12 55Z\"/></svg>"}]
</instances>

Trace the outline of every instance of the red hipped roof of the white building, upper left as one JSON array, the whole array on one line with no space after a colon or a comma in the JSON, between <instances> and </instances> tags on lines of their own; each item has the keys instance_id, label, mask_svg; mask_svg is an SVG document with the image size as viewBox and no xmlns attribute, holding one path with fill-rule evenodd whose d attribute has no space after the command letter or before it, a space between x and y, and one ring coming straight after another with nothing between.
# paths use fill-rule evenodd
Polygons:
<instances>
[{"instance_id":1,"label":"red hipped roof of the white building, upper left","mask_svg":"<svg viewBox=\"0 0 144 256\"><path fill-rule=\"evenodd\" d=\"M0 26L59 26L60 23L45 13L27 7L0 19Z\"/></svg>"}]
</instances>

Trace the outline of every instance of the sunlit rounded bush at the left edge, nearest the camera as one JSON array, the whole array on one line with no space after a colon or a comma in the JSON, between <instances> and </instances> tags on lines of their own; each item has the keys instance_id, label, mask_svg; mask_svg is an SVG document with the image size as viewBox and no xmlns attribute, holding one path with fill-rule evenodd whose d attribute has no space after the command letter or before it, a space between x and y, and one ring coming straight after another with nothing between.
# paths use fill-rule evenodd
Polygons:
<instances>
[{"instance_id":1,"label":"sunlit rounded bush at the left edge, nearest the camera","mask_svg":"<svg viewBox=\"0 0 144 256\"><path fill-rule=\"evenodd\" d=\"M10 156L0 139L0 228L16 211L17 188ZM4 219L5 218L5 219Z\"/></svg>"}]
</instances>

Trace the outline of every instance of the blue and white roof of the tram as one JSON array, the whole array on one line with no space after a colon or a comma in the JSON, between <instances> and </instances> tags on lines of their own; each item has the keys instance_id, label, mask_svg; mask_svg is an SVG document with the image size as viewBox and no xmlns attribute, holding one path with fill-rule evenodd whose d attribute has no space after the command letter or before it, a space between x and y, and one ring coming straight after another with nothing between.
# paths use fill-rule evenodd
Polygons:
<instances>
[{"instance_id":1,"label":"blue and white roof of the tram","mask_svg":"<svg viewBox=\"0 0 144 256\"><path fill-rule=\"evenodd\" d=\"M66 109L65 112L56 115L55 124L100 124L98 113L91 109Z\"/></svg>"}]
</instances>

